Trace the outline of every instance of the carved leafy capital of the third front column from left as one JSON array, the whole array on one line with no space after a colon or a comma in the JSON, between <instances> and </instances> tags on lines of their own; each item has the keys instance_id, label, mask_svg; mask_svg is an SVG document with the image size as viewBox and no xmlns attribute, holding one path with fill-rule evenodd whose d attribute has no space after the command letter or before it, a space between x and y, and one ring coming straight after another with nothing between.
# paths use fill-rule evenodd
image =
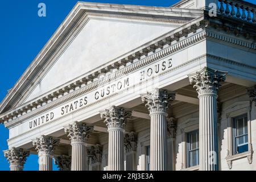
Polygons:
<instances>
[{"instance_id":1,"label":"carved leafy capital of the third front column from left","mask_svg":"<svg viewBox=\"0 0 256 182\"><path fill-rule=\"evenodd\" d=\"M71 143L84 143L89 139L90 133L93 131L93 126L86 125L86 123L75 122L68 127L65 127L65 133L71 140Z\"/></svg>"}]
</instances>

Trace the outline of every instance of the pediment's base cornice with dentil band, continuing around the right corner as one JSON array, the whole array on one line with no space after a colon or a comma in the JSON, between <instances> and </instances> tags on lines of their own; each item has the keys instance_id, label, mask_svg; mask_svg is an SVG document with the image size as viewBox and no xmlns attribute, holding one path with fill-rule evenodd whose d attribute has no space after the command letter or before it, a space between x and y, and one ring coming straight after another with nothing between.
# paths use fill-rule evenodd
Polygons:
<instances>
[{"instance_id":1,"label":"pediment's base cornice with dentil band, continuing around the right corner","mask_svg":"<svg viewBox=\"0 0 256 182\"><path fill-rule=\"evenodd\" d=\"M92 71L86 76L77 78L75 81L72 81L65 86L61 86L61 88L57 88L40 98L36 98L35 100L1 114L0 122L6 121L6 126L11 127L15 125L14 123L17 123L18 121L21 122L24 118L29 118L27 117L29 115L33 116L36 113L43 113L47 109L51 109L58 104L63 104L63 102L71 100L82 93L89 92L98 85L104 84L104 79L105 81L113 80L113 78L127 74L135 69L139 69L146 64L152 63L152 61L160 59L161 57L175 53L187 46L191 46L193 43L203 40L206 37L234 44L233 40L236 39L234 36L220 36L217 32L213 33L208 31L209 27L214 27L214 23L208 19L207 15L202 15L199 18L193 19L175 30L152 40L152 42L144 44L126 55L118 57L118 59L112 61L112 63L102 65L102 67ZM79 27L78 25L76 26ZM225 26L219 27L226 31ZM234 32L230 32L230 34L236 36ZM250 44L248 39L240 40L237 46L246 47L252 51L256 50L255 44ZM99 77L102 76L102 74L106 75L106 73L110 73L112 69L116 69L117 71L104 78ZM64 93L68 94L64 96ZM54 100L54 98L57 98L57 100ZM36 109L31 111L32 108ZM9 123L7 122L9 119L13 119L17 122Z\"/></svg>"}]
</instances>

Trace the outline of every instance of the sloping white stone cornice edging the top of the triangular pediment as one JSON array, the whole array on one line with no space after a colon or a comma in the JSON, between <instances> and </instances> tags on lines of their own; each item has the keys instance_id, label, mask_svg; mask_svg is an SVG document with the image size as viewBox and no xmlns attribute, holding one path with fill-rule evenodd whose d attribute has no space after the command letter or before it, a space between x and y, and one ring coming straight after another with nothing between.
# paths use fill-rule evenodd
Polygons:
<instances>
[{"instance_id":1,"label":"sloping white stone cornice edging the top of the triangular pediment","mask_svg":"<svg viewBox=\"0 0 256 182\"><path fill-rule=\"evenodd\" d=\"M30 84L31 80L36 77L43 65L47 63L49 57L63 42L65 36L72 31L72 28L77 26L81 16L86 13L101 13L101 14L115 14L126 16L147 17L155 19L174 19L184 24L189 20L198 18L203 14L201 10L189 9L170 9L168 7L153 7L153 6L135 6L135 5L114 5L107 3L89 3L78 2L72 11L68 14L67 18L61 23L60 27L55 31L51 39L43 47L42 51L35 57L34 61L26 69L23 75L19 78L18 82L9 90L7 96L0 104L0 113L5 113L10 110L15 104L16 99L19 98L23 90ZM114 64L114 63L113 63ZM0 120L1 122L1 120Z\"/></svg>"}]
</instances>

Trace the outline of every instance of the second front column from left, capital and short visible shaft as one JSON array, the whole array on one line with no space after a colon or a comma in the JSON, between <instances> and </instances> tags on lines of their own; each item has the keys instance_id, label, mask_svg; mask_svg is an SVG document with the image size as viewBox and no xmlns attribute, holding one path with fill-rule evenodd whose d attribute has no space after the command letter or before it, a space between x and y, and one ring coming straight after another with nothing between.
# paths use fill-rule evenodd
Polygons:
<instances>
[{"instance_id":1,"label":"second front column from left, capital and short visible shaft","mask_svg":"<svg viewBox=\"0 0 256 182\"><path fill-rule=\"evenodd\" d=\"M60 139L44 135L33 141L33 145L38 151L39 171L52 171L53 152L59 142Z\"/></svg>"}]
</instances>

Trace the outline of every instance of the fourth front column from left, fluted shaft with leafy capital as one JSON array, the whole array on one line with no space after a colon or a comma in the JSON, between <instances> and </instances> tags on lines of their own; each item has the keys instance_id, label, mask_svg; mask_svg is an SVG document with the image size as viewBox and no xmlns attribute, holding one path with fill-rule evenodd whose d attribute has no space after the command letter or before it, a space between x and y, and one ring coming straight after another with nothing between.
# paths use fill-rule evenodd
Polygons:
<instances>
[{"instance_id":1,"label":"fourth front column from left, fluted shaft with leafy capital","mask_svg":"<svg viewBox=\"0 0 256 182\"><path fill-rule=\"evenodd\" d=\"M127 118L131 117L131 111L122 107L111 107L101 112L101 118L108 127L109 132L109 171L123 171L125 169L123 148L123 127Z\"/></svg>"}]
</instances>

